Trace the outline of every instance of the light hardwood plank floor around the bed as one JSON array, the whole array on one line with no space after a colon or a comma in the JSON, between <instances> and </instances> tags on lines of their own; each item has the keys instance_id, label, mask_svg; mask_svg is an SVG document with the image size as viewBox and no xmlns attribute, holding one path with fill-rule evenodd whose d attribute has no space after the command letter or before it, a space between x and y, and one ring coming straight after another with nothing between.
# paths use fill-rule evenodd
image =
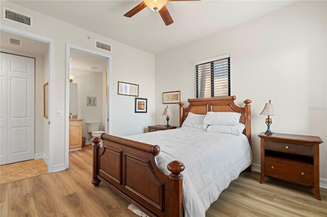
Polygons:
<instances>
[{"instance_id":1,"label":"light hardwood plank floor around the bed","mask_svg":"<svg viewBox=\"0 0 327 217\"><path fill-rule=\"evenodd\" d=\"M105 184L91 184L91 146L69 153L69 169L1 185L0 216L136 216L130 204ZM327 216L313 188L243 172L207 210L206 216Z\"/></svg>"}]
</instances>

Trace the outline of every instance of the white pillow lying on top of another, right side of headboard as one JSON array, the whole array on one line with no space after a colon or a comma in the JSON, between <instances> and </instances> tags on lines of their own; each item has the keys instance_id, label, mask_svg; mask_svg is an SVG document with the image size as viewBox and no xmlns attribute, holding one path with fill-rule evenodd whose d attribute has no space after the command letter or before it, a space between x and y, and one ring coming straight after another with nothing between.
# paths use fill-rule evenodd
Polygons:
<instances>
[{"instance_id":1,"label":"white pillow lying on top of another, right side of headboard","mask_svg":"<svg viewBox=\"0 0 327 217\"><path fill-rule=\"evenodd\" d=\"M208 112L204 118L204 124L231 125L240 122L241 113L237 112Z\"/></svg>"}]
</instances>

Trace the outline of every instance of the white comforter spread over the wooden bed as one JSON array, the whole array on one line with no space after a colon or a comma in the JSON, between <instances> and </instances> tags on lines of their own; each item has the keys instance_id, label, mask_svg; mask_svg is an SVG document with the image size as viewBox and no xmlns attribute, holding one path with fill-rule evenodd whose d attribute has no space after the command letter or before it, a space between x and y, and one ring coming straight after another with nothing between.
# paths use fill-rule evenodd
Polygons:
<instances>
[{"instance_id":1,"label":"white comforter spread over the wooden bed","mask_svg":"<svg viewBox=\"0 0 327 217\"><path fill-rule=\"evenodd\" d=\"M244 134L171 129L125 137L160 146L155 157L157 166L169 175L167 165L181 161L183 175L184 215L205 216L205 211L218 199L232 180L250 166L249 142Z\"/></svg>"}]
</instances>

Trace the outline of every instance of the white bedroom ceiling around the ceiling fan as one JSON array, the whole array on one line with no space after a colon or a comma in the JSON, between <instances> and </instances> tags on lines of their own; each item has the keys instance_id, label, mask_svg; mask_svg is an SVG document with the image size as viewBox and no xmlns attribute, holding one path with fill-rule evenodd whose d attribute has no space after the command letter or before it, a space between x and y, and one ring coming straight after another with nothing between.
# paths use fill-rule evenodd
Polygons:
<instances>
[{"instance_id":1,"label":"white bedroom ceiling around the ceiling fan","mask_svg":"<svg viewBox=\"0 0 327 217\"><path fill-rule=\"evenodd\" d=\"M166 6L174 23L168 26L149 8L123 16L142 1L11 2L157 54L297 1L170 1Z\"/></svg>"}]
</instances>

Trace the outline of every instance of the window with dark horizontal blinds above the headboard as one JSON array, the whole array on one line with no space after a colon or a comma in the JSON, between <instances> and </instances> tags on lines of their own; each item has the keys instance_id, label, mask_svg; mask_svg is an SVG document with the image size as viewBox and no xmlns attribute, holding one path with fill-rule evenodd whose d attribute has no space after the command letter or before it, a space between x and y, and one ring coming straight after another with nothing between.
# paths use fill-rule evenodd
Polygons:
<instances>
[{"instance_id":1,"label":"window with dark horizontal blinds above the headboard","mask_svg":"<svg viewBox=\"0 0 327 217\"><path fill-rule=\"evenodd\" d=\"M230 96L229 59L224 55L194 63L195 98Z\"/></svg>"}]
</instances>

